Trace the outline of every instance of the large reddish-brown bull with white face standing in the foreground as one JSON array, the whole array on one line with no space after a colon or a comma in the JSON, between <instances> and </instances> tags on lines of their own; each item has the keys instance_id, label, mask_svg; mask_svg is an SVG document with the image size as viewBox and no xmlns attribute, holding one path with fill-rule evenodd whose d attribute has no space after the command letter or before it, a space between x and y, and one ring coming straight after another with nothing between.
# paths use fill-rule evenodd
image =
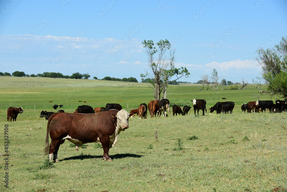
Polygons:
<instances>
[{"instance_id":1,"label":"large reddish-brown bull with white face standing in the foreground","mask_svg":"<svg viewBox=\"0 0 287 192\"><path fill-rule=\"evenodd\" d=\"M133 116L135 114L123 109L95 114L55 113L47 124L45 155L49 154L49 160L52 161L53 153L53 160L59 162L59 147L67 139L76 147L91 142L100 143L104 150L104 159L111 161L108 151L118 141L120 132L129 128L129 117Z\"/></svg>"}]
</instances>

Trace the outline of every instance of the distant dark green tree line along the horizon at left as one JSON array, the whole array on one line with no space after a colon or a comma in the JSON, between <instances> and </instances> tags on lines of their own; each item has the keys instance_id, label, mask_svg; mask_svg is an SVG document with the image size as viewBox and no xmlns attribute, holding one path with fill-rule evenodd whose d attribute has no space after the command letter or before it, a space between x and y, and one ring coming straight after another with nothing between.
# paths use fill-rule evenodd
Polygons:
<instances>
[{"instance_id":1,"label":"distant dark green tree line along the horizon at left","mask_svg":"<svg viewBox=\"0 0 287 192\"><path fill-rule=\"evenodd\" d=\"M23 71L14 71L12 75L7 72L0 72L0 76L14 76L14 77L50 77L50 78L66 78L66 79L88 79L91 77L88 73L81 74L79 72L73 73L71 76L69 75L63 75L62 73L55 73L55 72L44 72L44 73L38 73L37 75L35 74L25 74ZM93 77L93 79L98 79L98 77ZM107 81L127 81L127 82L135 82L137 83L137 79L134 77L129 77L126 78L124 77L123 79L115 78L115 77L104 77L101 80L107 80Z\"/></svg>"}]
</instances>

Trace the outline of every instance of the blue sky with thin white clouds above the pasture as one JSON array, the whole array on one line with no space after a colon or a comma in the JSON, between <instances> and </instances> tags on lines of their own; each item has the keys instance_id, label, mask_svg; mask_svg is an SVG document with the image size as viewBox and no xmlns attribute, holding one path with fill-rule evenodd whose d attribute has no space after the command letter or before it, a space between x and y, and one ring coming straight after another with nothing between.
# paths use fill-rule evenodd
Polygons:
<instances>
[{"instance_id":1,"label":"blue sky with thin white clouds above the pasture","mask_svg":"<svg viewBox=\"0 0 287 192\"><path fill-rule=\"evenodd\" d=\"M287 36L286 0L1 0L0 72L88 73L135 77L150 72L144 40L167 39L175 67L197 82L260 76L256 50Z\"/></svg>"}]
</instances>

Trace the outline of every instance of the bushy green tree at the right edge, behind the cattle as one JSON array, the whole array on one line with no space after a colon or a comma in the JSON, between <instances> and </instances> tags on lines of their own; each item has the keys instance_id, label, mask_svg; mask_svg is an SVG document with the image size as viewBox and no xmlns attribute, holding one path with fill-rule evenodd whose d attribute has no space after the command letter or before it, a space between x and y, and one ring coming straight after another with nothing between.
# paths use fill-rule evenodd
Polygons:
<instances>
[{"instance_id":1,"label":"bushy green tree at the right edge, behind the cattle","mask_svg":"<svg viewBox=\"0 0 287 192\"><path fill-rule=\"evenodd\" d=\"M277 94L284 98L287 97L287 36L275 47L257 50L256 58L262 67L262 79L267 84L267 91L260 93L270 93L272 96ZM257 87L258 88L258 87Z\"/></svg>"}]
</instances>

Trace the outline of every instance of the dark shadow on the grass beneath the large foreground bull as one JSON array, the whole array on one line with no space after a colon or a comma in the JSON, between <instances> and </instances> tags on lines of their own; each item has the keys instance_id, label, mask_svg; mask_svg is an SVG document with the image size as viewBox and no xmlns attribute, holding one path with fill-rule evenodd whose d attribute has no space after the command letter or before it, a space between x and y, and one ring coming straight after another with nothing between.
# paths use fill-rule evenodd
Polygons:
<instances>
[{"instance_id":1,"label":"dark shadow on the grass beneath the large foreground bull","mask_svg":"<svg viewBox=\"0 0 287 192\"><path fill-rule=\"evenodd\" d=\"M122 158L127 158L127 157L133 157L133 158L141 158L144 155L135 155L135 154L130 154L130 153L125 153L125 154L115 154L115 155L110 155L111 159L122 159ZM61 159L60 161L67 161L67 160L72 160L72 159L102 159L102 155L85 155L83 153L79 153L79 155L75 155L73 157L68 157Z\"/></svg>"}]
</instances>

